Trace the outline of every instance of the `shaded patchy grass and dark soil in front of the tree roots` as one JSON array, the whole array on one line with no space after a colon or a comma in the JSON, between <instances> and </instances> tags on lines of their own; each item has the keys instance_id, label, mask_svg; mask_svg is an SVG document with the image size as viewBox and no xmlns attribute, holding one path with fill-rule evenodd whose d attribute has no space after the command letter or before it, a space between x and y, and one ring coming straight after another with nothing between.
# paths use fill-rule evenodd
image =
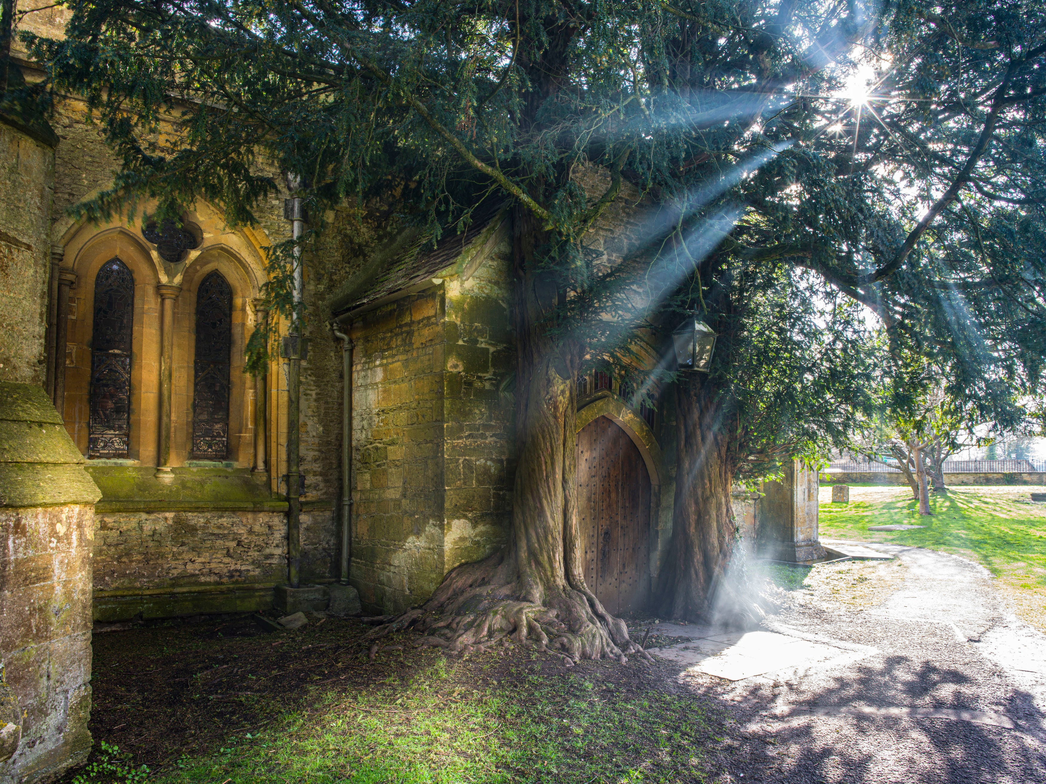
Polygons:
<instances>
[{"instance_id":1,"label":"shaded patchy grass and dark soil in front of the tree roots","mask_svg":"<svg viewBox=\"0 0 1046 784\"><path fill-rule=\"evenodd\" d=\"M723 718L669 687L661 664L567 669L515 646L447 659L406 637L370 661L368 627L315 621L274 635L240 619L96 636L95 753L64 781L719 779L708 755L724 741Z\"/></svg>"}]
</instances>

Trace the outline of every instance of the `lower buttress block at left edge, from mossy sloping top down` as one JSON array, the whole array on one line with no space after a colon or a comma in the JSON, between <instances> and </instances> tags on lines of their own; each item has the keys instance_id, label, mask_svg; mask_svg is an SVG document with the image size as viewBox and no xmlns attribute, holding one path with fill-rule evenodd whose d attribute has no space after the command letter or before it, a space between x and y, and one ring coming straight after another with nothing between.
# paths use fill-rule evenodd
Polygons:
<instances>
[{"instance_id":1,"label":"lower buttress block at left edge, from mossy sloping top down","mask_svg":"<svg viewBox=\"0 0 1046 784\"><path fill-rule=\"evenodd\" d=\"M0 691L17 699L20 722L0 733L8 741L21 735L15 750L5 744L14 756L0 756L0 784L54 778L91 747L100 493L83 462L42 387L0 381Z\"/></svg>"}]
</instances>

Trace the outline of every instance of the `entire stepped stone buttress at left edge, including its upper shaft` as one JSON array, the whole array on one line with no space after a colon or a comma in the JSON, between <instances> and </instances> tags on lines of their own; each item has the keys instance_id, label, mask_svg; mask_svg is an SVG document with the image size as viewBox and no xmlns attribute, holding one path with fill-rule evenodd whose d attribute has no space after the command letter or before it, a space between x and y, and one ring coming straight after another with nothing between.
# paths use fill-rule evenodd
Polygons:
<instances>
[{"instance_id":1,"label":"entire stepped stone buttress at left edge, including its upper shaft","mask_svg":"<svg viewBox=\"0 0 1046 784\"><path fill-rule=\"evenodd\" d=\"M54 141L0 111L0 698L17 704L0 719L2 784L55 778L91 746L99 493L41 386Z\"/></svg>"}]
</instances>

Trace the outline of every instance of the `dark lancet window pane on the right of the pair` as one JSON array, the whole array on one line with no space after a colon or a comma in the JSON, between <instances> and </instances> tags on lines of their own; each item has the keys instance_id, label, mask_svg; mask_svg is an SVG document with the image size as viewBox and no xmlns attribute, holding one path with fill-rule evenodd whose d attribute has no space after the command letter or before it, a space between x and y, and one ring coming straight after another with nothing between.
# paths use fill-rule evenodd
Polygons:
<instances>
[{"instance_id":1,"label":"dark lancet window pane on the right of the pair","mask_svg":"<svg viewBox=\"0 0 1046 784\"><path fill-rule=\"evenodd\" d=\"M212 272L197 291L192 457L224 460L229 451L229 364L232 290Z\"/></svg>"}]
</instances>

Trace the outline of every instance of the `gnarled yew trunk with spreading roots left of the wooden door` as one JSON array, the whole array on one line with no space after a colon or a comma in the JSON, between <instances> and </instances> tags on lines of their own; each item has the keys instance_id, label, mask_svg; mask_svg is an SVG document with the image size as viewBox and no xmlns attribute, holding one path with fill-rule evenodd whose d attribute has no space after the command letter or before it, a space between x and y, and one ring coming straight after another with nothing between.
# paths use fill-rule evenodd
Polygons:
<instances>
[{"instance_id":1,"label":"gnarled yew trunk with spreading roots left of the wooden door","mask_svg":"<svg viewBox=\"0 0 1046 784\"><path fill-rule=\"evenodd\" d=\"M374 631L416 626L422 645L469 652L511 637L576 659L624 660L639 648L624 622L585 584L577 529L576 374L581 351L547 333L563 293L536 269L544 234L529 212L514 216L516 428L520 447L504 551L450 572L432 598ZM376 642L371 651L381 643Z\"/></svg>"}]
</instances>

